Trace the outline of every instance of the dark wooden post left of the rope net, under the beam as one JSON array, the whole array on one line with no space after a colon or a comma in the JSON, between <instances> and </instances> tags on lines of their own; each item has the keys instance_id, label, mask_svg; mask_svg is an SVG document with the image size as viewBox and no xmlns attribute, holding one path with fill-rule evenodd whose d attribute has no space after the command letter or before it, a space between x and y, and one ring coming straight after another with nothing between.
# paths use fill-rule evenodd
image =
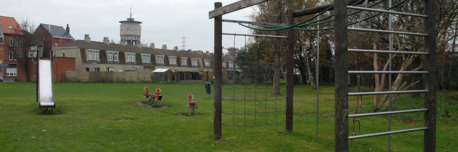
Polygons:
<instances>
[{"instance_id":1,"label":"dark wooden post left of the rope net, under the beam","mask_svg":"<svg viewBox=\"0 0 458 152\"><path fill-rule=\"evenodd\" d=\"M221 2L215 3L215 9L222 7ZM213 117L213 135L216 139L221 138L221 60L222 60L222 16L215 17L215 54L214 67L215 67L215 99L214 105L214 117Z\"/></svg>"}]
</instances>

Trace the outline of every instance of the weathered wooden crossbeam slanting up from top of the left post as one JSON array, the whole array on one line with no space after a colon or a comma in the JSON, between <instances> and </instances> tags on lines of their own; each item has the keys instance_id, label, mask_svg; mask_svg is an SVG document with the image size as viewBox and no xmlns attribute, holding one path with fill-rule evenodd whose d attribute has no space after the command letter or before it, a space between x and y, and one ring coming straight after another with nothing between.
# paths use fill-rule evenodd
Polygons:
<instances>
[{"instance_id":1,"label":"weathered wooden crossbeam slanting up from top of the left post","mask_svg":"<svg viewBox=\"0 0 458 152\"><path fill-rule=\"evenodd\" d=\"M226 5L221 8L217 8L213 11L208 12L208 18L212 19L216 16L238 11L238 10L241 10L241 9L244 9L244 8L256 5L256 4L260 4L263 2L267 2L267 1L270 1L270 0L241 0L233 4Z\"/></svg>"}]
</instances>

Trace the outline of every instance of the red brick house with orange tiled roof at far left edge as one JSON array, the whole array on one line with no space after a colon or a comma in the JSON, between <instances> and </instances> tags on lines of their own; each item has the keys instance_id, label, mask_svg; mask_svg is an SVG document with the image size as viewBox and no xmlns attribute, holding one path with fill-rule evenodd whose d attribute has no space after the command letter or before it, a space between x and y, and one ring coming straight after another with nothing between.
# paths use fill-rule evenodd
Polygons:
<instances>
[{"instance_id":1,"label":"red brick house with orange tiled roof at far left edge","mask_svg":"<svg viewBox=\"0 0 458 152\"><path fill-rule=\"evenodd\" d=\"M19 48L18 31L20 26L14 17L0 16L0 77L5 80L17 80L18 55L11 48Z\"/></svg>"}]
</instances>

